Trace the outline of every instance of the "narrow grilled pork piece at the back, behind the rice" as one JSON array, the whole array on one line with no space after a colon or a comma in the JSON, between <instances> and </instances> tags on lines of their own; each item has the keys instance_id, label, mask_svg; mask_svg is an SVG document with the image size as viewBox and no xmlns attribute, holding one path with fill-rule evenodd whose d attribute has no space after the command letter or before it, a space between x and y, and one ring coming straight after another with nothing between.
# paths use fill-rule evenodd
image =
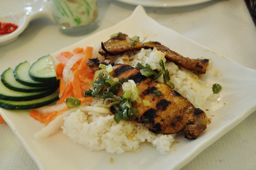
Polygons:
<instances>
[{"instance_id":1,"label":"narrow grilled pork piece at the back, behind the rice","mask_svg":"<svg viewBox=\"0 0 256 170\"><path fill-rule=\"evenodd\" d=\"M131 43L127 42L126 37L126 34L122 34L109 39L105 43L101 43L102 48L99 53L106 57L107 55L123 54L131 50L140 50L141 48L153 49L155 47L157 50L162 51L163 53L166 52L165 58L168 58L174 63L180 64L181 66L192 70L196 74L205 74L206 72L206 67L209 62L208 59L185 58L158 42L136 43L135 45L131 46Z\"/></svg>"}]
</instances>

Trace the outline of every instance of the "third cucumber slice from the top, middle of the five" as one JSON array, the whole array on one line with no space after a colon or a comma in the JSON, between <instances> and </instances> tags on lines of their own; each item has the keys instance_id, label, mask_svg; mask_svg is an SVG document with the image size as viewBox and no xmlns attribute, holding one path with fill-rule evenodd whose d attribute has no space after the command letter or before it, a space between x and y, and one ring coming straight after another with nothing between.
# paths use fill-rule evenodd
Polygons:
<instances>
[{"instance_id":1,"label":"third cucumber slice from the top, middle of the five","mask_svg":"<svg viewBox=\"0 0 256 170\"><path fill-rule=\"evenodd\" d=\"M22 85L18 81L15 80L13 76L13 69L9 68L6 69L2 74L1 74L1 81L7 87L8 89L14 90L14 91L21 91L21 92L38 92L38 91L45 91L45 90L50 90L53 88L58 87L57 85L55 86L50 86L50 87L30 87L27 85Z\"/></svg>"}]
</instances>

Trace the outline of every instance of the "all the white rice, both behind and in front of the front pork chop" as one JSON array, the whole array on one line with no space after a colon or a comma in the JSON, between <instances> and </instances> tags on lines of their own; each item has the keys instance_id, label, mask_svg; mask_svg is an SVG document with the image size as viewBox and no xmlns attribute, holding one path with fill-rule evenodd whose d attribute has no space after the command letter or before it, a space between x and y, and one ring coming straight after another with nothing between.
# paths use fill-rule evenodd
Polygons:
<instances>
[{"instance_id":1,"label":"all the white rice, both behind and in front of the front pork chop","mask_svg":"<svg viewBox=\"0 0 256 170\"><path fill-rule=\"evenodd\" d=\"M94 45L93 58L101 59L98 49L100 45ZM138 62L155 63L160 69L159 60L163 59L165 69L170 71L170 82L182 96L186 97L196 107L202 107L207 99L214 99L211 87L206 86L196 74L184 68L179 68L173 62L166 62L165 53L156 48L141 49L139 52L129 52L119 57L112 57L117 64L129 64L135 66ZM157 79L163 82L163 75ZM94 98L91 106L103 106L102 99ZM142 142L152 143L161 153L169 151L175 141L176 134L151 133L143 124L132 121L116 123L113 115L100 114L97 112L81 112L77 110L64 118L63 133L75 143L84 145L90 151L106 149L108 153L121 154L125 151L139 151Z\"/></svg>"}]
</instances>

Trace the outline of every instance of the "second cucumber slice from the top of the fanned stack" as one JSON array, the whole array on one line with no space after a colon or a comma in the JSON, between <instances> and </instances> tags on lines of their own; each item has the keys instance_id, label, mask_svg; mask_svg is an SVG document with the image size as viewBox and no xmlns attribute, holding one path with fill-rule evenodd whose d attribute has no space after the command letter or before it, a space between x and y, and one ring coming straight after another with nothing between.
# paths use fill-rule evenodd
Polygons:
<instances>
[{"instance_id":1,"label":"second cucumber slice from the top of the fanned stack","mask_svg":"<svg viewBox=\"0 0 256 170\"><path fill-rule=\"evenodd\" d=\"M53 81L50 83L32 80L28 74L30 67L31 67L31 64L28 63L27 61L17 65L13 71L15 80L21 83L22 85L27 85L31 87L47 87L50 85L52 86L59 85L59 79L57 81Z\"/></svg>"}]
</instances>

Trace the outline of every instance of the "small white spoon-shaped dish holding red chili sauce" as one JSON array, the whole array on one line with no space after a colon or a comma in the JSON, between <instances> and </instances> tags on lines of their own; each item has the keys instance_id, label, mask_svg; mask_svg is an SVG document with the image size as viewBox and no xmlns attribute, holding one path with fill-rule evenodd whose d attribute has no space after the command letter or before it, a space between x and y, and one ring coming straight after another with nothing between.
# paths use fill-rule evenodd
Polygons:
<instances>
[{"instance_id":1,"label":"small white spoon-shaped dish holding red chili sauce","mask_svg":"<svg viewBox=\"0 0 256 170\"><path fill-rule=\"evenodd\" d=\"M15 41L18 36L27 28L30 21L41 17L47 17L54 21L52 7L50 1L48 0L37 2L37 4L32 3L30 5L24 5L23 9L24 10L22 10L20 13L11 13L10 15L0 16L0 22L12 23L18 26L14 32L0 35L0 46Z\"/></svg>"}]
</instances>

